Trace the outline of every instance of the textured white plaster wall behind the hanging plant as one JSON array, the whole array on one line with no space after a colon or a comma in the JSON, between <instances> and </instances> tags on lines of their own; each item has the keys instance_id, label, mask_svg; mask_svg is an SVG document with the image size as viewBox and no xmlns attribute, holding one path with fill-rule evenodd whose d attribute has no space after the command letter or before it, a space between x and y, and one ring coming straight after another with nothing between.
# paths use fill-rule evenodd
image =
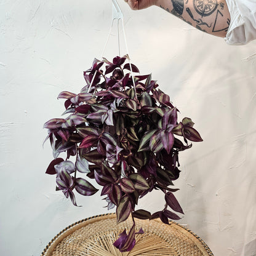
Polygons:
<instances>
[{"instance_id":1,"label":"textured white plaster wall behind the hanging plant","mask_svg":"<svg viewBox=\"0 0 256 256\"><path fill-rule=\"evenodd\" d=\"M204 138L180 154L180 223L216 256L256 255L256 41L228 46L157 7L134 12L119 2L132 62ZM42 148L42 125L60 117L59 92L84 85L111 11L110 0L0 0L0 255L39 255L66 226L107 212L98 194L74 207L55 191L44 174L52 153L48 142ZM113 31L105 57L115 55ZM158 197L140 206L161 209Z\"/></svg>"}]
</instances>

